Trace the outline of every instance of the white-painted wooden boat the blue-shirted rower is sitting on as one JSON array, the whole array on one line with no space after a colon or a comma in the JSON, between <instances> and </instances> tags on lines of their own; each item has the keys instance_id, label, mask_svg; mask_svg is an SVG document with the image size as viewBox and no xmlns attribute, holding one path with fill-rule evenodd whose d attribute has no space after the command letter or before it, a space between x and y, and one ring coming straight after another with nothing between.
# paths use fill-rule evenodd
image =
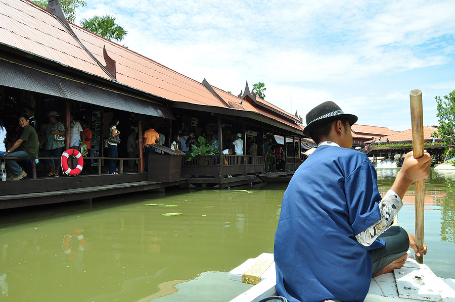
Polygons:
<instances>
[{"instance_id":1,"label":"white-painted wooden boat the blue-shirted rower is sitting on","mask_svg":"<svg viewBox=\"0 0 455 302\"><path fill-rule=\"evenodd\" d=\"M261 254L254 259L248 259L229 272L231 280L255 284L231 302L257 302L265 297L277 295L273 257L273 254ZM370 290L365 298L365 302L391 300L455 301L455 279L437 277L427 265L417 263L411 250L408 250L406 263L401 269L371 279Z\"/></svg>"}]
</instances>

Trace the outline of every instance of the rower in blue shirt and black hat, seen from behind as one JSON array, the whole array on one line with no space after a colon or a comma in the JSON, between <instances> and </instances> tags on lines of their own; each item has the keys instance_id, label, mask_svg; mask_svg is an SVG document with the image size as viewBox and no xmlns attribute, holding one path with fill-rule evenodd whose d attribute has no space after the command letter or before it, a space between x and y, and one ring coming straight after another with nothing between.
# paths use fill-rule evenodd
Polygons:
<instances>
[{"instance_id":1,"label":"rower in blue shirt and black hat, seen from behind","mask_svg":"<svg viewBox=\"0 0 455 302\"><path fill-rule=\"evenodd\" d=\"M277 291L289 301L363 301L371 277L401 268L409 247L426 254L392 224L408 187L430 174L430 155L408 153L381 198L375 168L352 149L356 121L333 102L306 115L317 149L289 182L275 234Z\"/></svg>"}]
</instances>

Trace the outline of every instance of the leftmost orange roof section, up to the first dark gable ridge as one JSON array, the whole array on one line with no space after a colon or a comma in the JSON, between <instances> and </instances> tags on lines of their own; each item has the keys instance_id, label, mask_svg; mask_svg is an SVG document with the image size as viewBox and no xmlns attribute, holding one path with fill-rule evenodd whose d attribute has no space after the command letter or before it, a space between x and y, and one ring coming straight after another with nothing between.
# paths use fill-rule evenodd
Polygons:
<instances>
[{"instance_id":1,"label":"leftmost orange roof section, up to the first dark gable ridge","mask_svg":"<svg viewBox=\"0 0 455 302\"><path fill-rule=\"evenodd\" d=\"M0 1L0 42L108 78L51 13L26 0Z\"/></svg>"}]
</instances>

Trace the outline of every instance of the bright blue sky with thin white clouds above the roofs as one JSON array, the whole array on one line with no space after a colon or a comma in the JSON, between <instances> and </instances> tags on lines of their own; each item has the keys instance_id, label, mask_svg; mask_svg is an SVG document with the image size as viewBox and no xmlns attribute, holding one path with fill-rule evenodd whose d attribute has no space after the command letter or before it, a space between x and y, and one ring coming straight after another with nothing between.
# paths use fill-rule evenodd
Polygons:
<instances>
[{"instance_id":1,"label":"bright blue sky with thin white clouds above the roofs","mask_svg":"<svg viewBox=\"0 0 455 302\"><path fill-rule=\"evenodd\" d=\"M264 82L265 100L304 125L332 100L357 124L403 131L413 89L424 125L438 125L434 98L455 90L453 0L86 1L76 24L113 15L132 51L235 95Z\"/></svg>"}]
</instances>

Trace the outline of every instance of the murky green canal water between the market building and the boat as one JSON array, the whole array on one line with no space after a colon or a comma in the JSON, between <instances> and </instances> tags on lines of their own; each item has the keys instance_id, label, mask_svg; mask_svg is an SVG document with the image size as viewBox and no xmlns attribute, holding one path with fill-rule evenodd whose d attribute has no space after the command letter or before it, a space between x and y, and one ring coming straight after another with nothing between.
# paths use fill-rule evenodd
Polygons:
<instances>
[{"instance_id":1,"label":"murky green canal water between the market building and the boat","mask_svg":"<svg viewBox=\"0 0 455 302\"><path fill-rule=\"evenodd\" d=\"M397 172L378 169L383 193ZM426 182L424 262L449 278L455 278L454 179L455 173L432 171ZM97 199L91 208L3 211L0 301L229 301L248 285L228 281L226 272L273 252L285 188L140 193ZM398 221L414 232L412 199L405 196Z\"/></svg>"}]
</instances>

